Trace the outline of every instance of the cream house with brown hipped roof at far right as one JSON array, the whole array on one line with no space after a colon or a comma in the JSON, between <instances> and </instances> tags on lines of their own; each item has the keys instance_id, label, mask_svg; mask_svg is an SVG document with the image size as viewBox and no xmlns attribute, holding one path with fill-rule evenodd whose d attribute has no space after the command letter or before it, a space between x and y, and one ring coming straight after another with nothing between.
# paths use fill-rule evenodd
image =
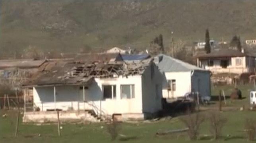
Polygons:
<instances>
[{"instance_id":1,"label":"cream house with brown hipped roof at far right","mask_svg":"<svg viewBox=\"0 0 256 143\"><path fill-rule=\"evenodd\" d=\"M197 66L215 73L250 73L255 68L255 57L232 49L213 50L195 56Z\"/></svg>"}]
</instances>

